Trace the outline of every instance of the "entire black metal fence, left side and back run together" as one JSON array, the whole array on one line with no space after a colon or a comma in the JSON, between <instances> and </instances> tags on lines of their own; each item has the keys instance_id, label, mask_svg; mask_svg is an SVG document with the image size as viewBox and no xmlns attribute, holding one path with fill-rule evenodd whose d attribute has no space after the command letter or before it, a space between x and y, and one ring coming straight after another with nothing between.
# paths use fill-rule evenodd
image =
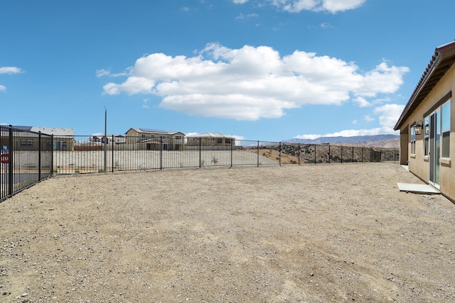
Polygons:
<instances>
[{"instance_id":1,"label":"entire black metal fence, left side and back run together","mask_svg":"<svg viewBox=\"0 0 455 303\"><path fill-rule=\"evenodd\" d=\"M0 126L0 202L53 174L399 159L397 148L207 138L49 136Z\"/></svg>"}]
</instances>

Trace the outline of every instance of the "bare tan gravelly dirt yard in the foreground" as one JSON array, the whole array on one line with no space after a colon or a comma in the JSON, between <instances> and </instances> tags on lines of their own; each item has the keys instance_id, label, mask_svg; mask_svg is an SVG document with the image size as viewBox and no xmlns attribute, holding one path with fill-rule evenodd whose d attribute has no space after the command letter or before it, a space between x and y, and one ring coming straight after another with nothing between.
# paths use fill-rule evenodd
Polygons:
<instances>
[{"instance_id":1,"label":"bare tan gravelly dirt yard in the foreground","mask_svg":"<svg viewBox=\"0 0 455 303\"><path fill-rule=\"evenodd\" d=\"M0 203L1 302L454 302L455 205L394 163L53 177Z\"/></svg>"}]
</instances>

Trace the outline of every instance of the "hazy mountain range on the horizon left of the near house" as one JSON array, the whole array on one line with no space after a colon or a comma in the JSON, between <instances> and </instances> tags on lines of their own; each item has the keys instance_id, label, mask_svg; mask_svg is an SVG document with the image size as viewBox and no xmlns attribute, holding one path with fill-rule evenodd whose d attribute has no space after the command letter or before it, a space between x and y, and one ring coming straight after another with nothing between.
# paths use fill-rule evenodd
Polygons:
<instances>
[{"instance_id":1,"label":"hazy mountain range on the horizon left of the near house","mask_svg":"<svg viewBox=\"0 0 455 303\"><path fill-rule=\"evenodd\" d=\"M338 144L358 145L376 148L400 148L400 136L396 135L375 135L375 136L353 136L353 137L319 137L316 139L288 139L283 143L301 144Z\"/></svg>"}]
</instances>

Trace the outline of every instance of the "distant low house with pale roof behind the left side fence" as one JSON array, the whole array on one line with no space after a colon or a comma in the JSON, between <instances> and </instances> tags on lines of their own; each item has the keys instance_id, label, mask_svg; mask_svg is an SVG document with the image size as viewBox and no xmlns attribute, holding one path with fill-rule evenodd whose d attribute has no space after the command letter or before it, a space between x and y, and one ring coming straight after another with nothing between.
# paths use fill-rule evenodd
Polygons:
<instances>
[{"instance_id":1,"label":"distant low house with pale roof behind the left side fence","mask_svg":"<svg viewBox=\"0 0 455 303\"><path fill-rule=\"evenodd\" d=\"M39 127L39 126L13 126L15 130L24 131L23 136L16 133L14 135L16 142L14 149L16 150L38 150L38 136L31 136L31 133L43 133L46 135L53 135L53 150L73 150L74 130L73 128L53 128L53 127ZM45 144L50 145L50 141ZM1 134L0 145L8 146L5 134ZM9 147L11 149L11 147Z\"/></svg>"}]
</instances>

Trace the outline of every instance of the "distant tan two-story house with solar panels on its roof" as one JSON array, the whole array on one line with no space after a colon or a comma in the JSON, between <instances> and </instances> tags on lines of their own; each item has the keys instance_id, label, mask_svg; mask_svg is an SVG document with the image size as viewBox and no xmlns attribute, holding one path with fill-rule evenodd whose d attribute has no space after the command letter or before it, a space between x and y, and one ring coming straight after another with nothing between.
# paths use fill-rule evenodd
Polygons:
<instances>
[{"instance_id":1,"label":"distant tan two-story house with solar panels on its roof","mask_svg":"<svg viewBox=\"0 0 455 303\"><path fill-rule=\"evenodd\" d=\"M182 150L184 133L149 128L129 128L126 143L138 150Z\"/></svg>"}]
</instances>

